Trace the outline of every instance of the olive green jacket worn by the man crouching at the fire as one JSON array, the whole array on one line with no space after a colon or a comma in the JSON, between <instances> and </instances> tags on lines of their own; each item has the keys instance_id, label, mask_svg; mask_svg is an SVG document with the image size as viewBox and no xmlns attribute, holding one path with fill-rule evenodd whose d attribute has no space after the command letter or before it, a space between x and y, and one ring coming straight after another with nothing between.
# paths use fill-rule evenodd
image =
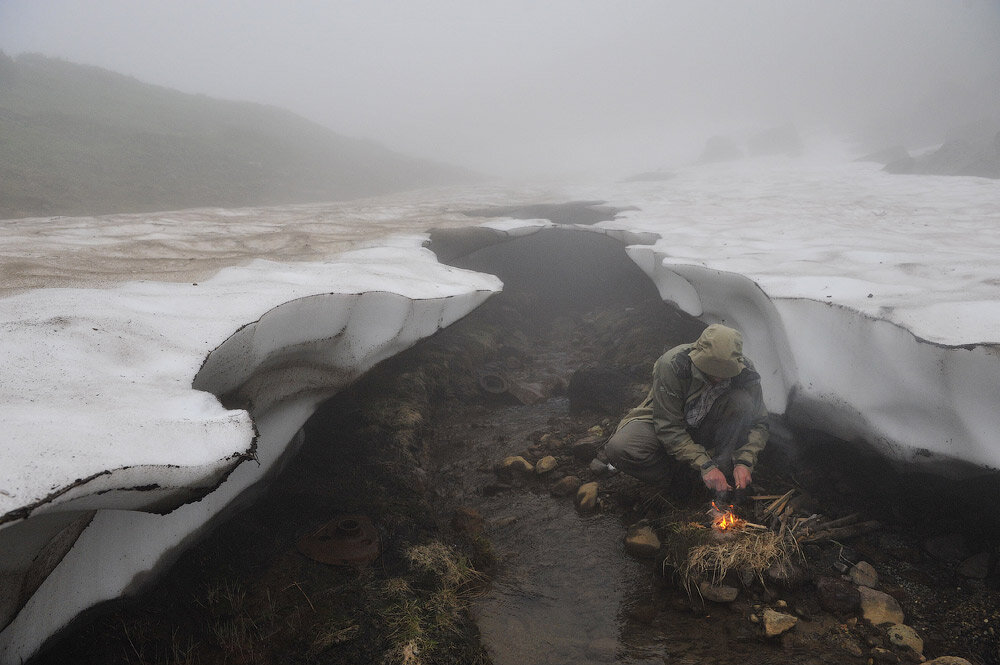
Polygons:
<instances>
[{"instance_id":1,"label":"olive green jacket worn by the man crouching at the fire","mask_svg":"<svg viewBox=\"0 0 1000 665\"><path fill-rule=\"evenodd\" d=\"M664 449L704 474L717 465L709 451L691 438L684 420L685 405L697 399L711 385L688 357L693 347L694 344L681 344L660 356L653 365L653 385L649 395L642 404L626 414L618 427L632 420L652 422ZM760 375L749 359L744 358L743 361L746 368L731 379L732 386L750 393L756 413L746 444L733 455L733 465L742 464L753 469L757 455L767 445L767 409L760 389Z\"/></svg>"}]
</instances>

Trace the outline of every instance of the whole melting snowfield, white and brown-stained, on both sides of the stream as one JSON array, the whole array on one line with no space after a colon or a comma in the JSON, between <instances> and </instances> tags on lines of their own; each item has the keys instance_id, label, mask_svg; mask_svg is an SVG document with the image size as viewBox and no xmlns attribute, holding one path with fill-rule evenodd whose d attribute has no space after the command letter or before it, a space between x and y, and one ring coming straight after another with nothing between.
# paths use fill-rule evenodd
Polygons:
<instances>
[{"instance_id":1,"label":"whole melting snowfield, white and brown-stained, on both sides of the stream","mask_svg":"<svg viewBox=\"0 0 1000 665\"><path fill-rule=\"evenodd\" d=\"M1000 468L1000 183L830 159L674 172L0 222L0 663L168 564L322 399L501 288L437 263L425 231L552 226L468 209L634 207L571 228L631 244L665 299L741 329L772 411Z\"/></svg>"}]
</instances>

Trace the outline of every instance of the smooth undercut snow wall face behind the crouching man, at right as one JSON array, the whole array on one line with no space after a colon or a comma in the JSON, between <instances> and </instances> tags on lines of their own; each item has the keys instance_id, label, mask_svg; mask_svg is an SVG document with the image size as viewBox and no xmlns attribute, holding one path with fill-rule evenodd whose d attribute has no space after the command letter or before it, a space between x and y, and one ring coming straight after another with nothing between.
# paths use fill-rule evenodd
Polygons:
<instances>
[{"instance_id":1,"label":"smooth undercut snow wall face behind the crouching man, at right","mask_svg":"<svg viewBox=\"0 0 1000 665\"><path fill-rule=\"evenodd\" d=\"M628 253L664 300L743 332L772 412L871 442L893 459L1000 468L995 345L931 343L844 305L768 296L742 275L652 247Z\"/></svg>"}]
</instances>

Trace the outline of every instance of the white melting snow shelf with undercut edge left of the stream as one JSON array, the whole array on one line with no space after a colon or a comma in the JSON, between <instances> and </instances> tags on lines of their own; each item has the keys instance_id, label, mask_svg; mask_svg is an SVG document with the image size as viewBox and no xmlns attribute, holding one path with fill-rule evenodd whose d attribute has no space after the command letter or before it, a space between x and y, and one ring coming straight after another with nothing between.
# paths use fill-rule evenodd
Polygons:
<instances>
[{"instance_id":1,"label":"white melting snow shelf with undercut edge left of the stream","mask_svg":"<svg viewBox=\"0 0 1000 665\"><path fill-rule=\"evenodd\" d=\"M322 263L256 261L198 286L0 300L14 340L0 351L0 399L12 405L0 448L0 663L166 564L275 468L319 401L501 288L438 264L414 246L422 240ZM52 323L57 311L73 323ZM39 320L52 336L37 334ZM83 333L94 328L117 341L91 348ZM76 362L42 362L49 353ZM32 372L9 371L32 359ZM67 423L80 429L55 436Z\"/></svg>"}]
</instances>

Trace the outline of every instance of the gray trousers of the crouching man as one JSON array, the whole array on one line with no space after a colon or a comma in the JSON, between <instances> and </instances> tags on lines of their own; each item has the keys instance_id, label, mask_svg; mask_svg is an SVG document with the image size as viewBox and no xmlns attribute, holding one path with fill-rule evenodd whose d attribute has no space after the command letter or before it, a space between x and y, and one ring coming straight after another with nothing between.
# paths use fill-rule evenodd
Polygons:
<instances>
[{"instance_id":1,"label":"gray trousers of the crouching man","mask_svg":"<svg viewBox=\"0 0 1000 665\"><path fill-rule=\"evenodd\" d=\"M730 390L719 396L697 428L688 428L691 438L712 456L730 480L733 454L746 444L753 423L753 398L746 390ZM692 467L678 462L663 448L653 423L633 420L621 427L604 446L604 454L616 468L654 485L690 482Z\"/></svg>"}]
</instances>

